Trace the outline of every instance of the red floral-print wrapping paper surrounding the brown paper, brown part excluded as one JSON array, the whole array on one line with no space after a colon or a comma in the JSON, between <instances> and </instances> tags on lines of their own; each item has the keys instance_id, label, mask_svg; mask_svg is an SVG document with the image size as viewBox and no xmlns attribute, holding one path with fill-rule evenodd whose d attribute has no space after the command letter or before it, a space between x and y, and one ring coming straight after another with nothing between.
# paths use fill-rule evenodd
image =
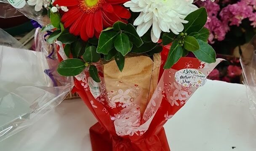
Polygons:
<instances>
[{"instance_id":1,"label":"red floral-print wrapping paper surrounding the brown paper, brown part excluded","mask_svg":"<svg viewBox=\"0 0 256 151\"><path fill-rule=\"evenodd\" d=\"M168 55L168 49L163 48L159 83L142 118L136 104L117 107L115 105L118 102L107 102L103 92L95 99L88 86L88 72L75 76L77 93L98 120L90 128L93 151L170 151L163 125L184 106L198 88L183 87L177 83L174 80L176 71L195 68L208 76L222 60L217 59L216 63L207 64L196 58L182 57L172 69L163 70ZM101 89L104 88L102 75L99 72ZM122 93L125 94L123 90ZM112 105L109 105L110 102Z\"/></svg>"}]
</instances>

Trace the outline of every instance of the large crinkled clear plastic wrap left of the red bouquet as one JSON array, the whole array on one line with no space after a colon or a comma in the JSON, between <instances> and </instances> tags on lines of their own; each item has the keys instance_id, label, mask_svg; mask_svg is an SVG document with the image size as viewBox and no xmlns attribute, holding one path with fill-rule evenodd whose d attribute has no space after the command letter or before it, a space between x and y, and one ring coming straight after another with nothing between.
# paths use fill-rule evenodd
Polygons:
<instances>
[{"instance_id":1,"label":"large crinkled clear plastic wrap left of the red bouquet","mask_svg":"<svg viewBox=\"0 0 256 151\"><path fill-rule=\"evenodd\" d=\"M37 29L27 50L0 29L0 141L27 128L67 96L72 77L60 76L55 47Z\"/></svg>"}]
</instances>

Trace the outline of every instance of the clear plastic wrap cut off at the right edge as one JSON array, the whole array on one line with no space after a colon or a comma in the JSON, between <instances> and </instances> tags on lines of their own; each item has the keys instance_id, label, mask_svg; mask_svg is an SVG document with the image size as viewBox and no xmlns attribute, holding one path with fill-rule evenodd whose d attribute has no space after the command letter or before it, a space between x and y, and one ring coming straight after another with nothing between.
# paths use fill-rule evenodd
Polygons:
<instances>
[{"instance_id":1,"label":"clear plastic wrap cut off at the right edge","mask_svg":"<svg viewBox=\"0 0 256 151\"><path fill-rule=\"evenodd\" d=\"M244 84L247 90L250 110L256 118L256 36L253 37L240 57Z\"/></svg>"}]
</instances>

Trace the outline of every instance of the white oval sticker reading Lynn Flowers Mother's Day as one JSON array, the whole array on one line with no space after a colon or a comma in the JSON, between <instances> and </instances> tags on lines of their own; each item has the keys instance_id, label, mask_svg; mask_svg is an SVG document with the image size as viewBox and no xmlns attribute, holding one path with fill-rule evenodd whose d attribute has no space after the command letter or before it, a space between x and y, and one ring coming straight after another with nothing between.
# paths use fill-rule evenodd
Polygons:
<instances>
[{"instance_id":1,"label":"white oval sticker reading Lynn Flowers Mother's Day","mask_svg":"<svg viewBox=\"0 0 256 151\"><path fill-rule=\"evenodd\" d=\"M206 83L206 76L196 69L181 69L175 73L175 80L184 87L200 87Z\"/></svg>"}]
</instances>

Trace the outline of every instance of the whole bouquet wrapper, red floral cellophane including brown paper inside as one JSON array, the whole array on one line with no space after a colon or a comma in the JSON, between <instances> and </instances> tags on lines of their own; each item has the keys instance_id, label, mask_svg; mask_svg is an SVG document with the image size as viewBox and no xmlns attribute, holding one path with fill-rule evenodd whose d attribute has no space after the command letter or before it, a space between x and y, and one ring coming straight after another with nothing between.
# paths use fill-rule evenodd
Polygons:
<instances>
[{"instance_id":1,"label":"whole bouquet wrapper, red floral cellophane including brown paper inside","mask_svg":"<svg viewBox=\"0 0 256 151\"><path fill-rule=\"evenodd\" d=\"M145 56L139 62L125 58L122 73L117 72L115 60L98 65L100 83L92 80L88 70L75 76L77 93L98 120L90 128L93 151L170 151L163 125L198 88L177 83L176 71L194 68L208 76L222 60L208 64L182 57L171 69L163 70L167 55L168 49L163 47L161 55L154 55L158 62L149 61L149 67L143 68ZM140 70L142 75L137 73Z\"/></svg>"}]
</instances>

